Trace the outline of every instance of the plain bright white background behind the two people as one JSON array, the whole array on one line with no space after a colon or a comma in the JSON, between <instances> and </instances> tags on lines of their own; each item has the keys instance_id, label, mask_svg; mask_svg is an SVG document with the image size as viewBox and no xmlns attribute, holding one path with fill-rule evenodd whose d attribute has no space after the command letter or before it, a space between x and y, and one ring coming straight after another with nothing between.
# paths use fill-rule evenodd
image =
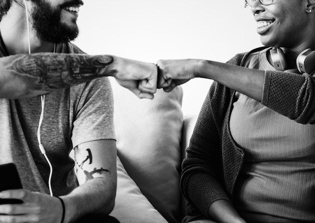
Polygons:
<instances>
[{"instance_id":1,"label":"plain bright white background behind the two people","mask_svg":"<svg viewBox=\"0 0 315 223\"><path fill-rule=\"evenodd\" d=\"M226 62L260 47L243 0L85 0L74 42L85 52L155 63L159 59ZM184 115L198 114L212 80L183 84Z\"/></svg>"}]
</instances>

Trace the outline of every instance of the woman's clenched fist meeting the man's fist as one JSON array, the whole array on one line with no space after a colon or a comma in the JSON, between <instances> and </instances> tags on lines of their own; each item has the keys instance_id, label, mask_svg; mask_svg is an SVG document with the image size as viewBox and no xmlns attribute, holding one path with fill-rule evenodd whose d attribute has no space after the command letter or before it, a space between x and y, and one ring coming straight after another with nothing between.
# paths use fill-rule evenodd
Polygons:
<instances>
[{"instance_id":1,"label":"woman's clenched fist meeting the man's fist","mask_svg":"<svg viewBox=\"0 0 315 223\"><path fill-rule=\"evenodd\" d=\"M186 83L196 77L198 60L159 60L157 87L170 92L177 85Z\"/></svg>"}]
</instances>

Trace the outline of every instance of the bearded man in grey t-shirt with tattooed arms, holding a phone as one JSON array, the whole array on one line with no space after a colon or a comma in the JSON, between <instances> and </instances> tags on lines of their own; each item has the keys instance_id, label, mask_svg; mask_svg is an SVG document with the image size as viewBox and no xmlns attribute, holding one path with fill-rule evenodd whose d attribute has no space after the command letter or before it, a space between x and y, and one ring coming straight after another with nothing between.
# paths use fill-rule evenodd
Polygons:
<instances>
[{"instance_id":1,"label":"bearded man in grey t-shirt with tattooed arms, holding a phone","mask_svg":"<svg viewBox=\"0 0 315 223\"><path fill-rule=\"evenodd\" d=\"M82 6L81 0L0 3L0 164L14 163L23 185L0 192L0 201L22 202L0 204L0 222L117 222L108 216L117 150L107 76L152 99L156 66L86 55L71 44Z\"/></svg>"}]
</instances>

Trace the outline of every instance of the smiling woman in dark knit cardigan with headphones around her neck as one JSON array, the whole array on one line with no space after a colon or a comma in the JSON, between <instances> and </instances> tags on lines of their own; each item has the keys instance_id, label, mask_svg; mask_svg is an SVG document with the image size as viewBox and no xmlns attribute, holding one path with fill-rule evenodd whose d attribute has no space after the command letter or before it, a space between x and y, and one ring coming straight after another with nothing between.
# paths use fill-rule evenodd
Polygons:
<instances>
[{"instance_id":1,"label":"smiling woman in dark knit cardigan with headphones around her neck","mask_svg":"<svg viewBox=\"0 0 315 223\"><path fill-rule=\"evenodd\" d=\"M227 64L157 62L166 91L194 77L214 80L182 165L183 222L314 222L315 79L296 59L315 50L315 1L246 3L266 47Z\"/></svg>"}]
</instances>

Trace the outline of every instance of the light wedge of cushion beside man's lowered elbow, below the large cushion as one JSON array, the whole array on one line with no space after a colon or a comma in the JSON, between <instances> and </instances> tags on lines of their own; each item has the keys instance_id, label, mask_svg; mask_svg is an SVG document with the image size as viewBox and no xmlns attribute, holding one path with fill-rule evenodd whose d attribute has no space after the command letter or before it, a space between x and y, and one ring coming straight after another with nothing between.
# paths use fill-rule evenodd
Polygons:
<instances>
[{"instance_id":1,"label":"light wedge of cushion beside man's lowered elbow, below the large cushion","mask_svg":"<svg viewBox=\"0 0 315 223\"><path fill-rule=\"evenodd\" d=\"M117 194L111 212L121 223L167 223L130 178L117 157Z\"/></svg>"}]
</instances>

